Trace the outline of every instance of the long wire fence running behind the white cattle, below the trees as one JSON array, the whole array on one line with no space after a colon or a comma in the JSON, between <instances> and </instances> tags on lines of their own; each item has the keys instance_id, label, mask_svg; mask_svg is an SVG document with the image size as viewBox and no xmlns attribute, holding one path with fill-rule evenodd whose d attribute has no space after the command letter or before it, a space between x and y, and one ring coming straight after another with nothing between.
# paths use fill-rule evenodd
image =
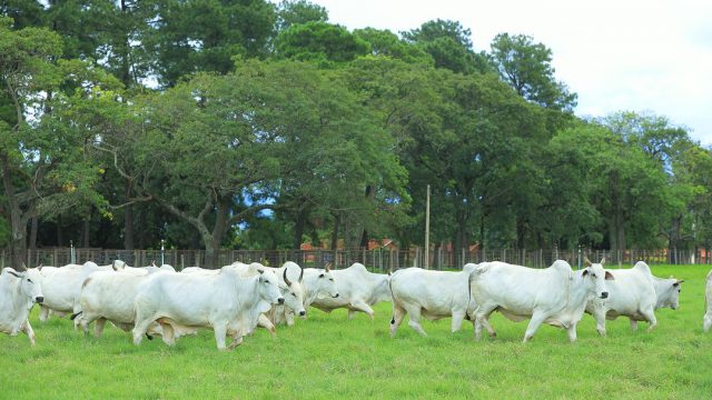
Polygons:
<instances>
[{"instance_id":1,"label":"long wire fence running behind the white cattle, below the trees","mask_svg":"<svg viewBox=\"0 0 712 400\"><path fill-rule=\"evenodd\" d=\"M72 254L73 253L73 254ZM122 260L129 266L148 266L151 262L168 263L177 270L186 267L220 268L234 261L245 263L261 262L266 266L281 266L286 261L294 261L306 268L325 268L330 264L333 268L347 268L354 262L360 262L367 268L386 272L408 267L426 267L425 251L422 248L409 250L396 250L380 248L375 250L352 249L352 250L229 250L224 249L218 252L217 264L206 264L205 250L112 250L112 249L80 249L80 248L51 248L34 249L27 251L27 266L66 266L68 263L83 263L93 261L98 264L108 264L113 260ZM483 261L504 261L508 263L527 266L532 268L546 268L554 260L566 260L571 266L580 268L587 258L597 262L603 258L606 267L630 267L637 261L645 261L649 264L710 264L711 252L706 249L696 250L446 250L432 249L427 267L431 269L462 269L467 262L479 263ZM11 267L9 252L2 250L0 253L0 268Z\"/></svg>"}]
</instances>

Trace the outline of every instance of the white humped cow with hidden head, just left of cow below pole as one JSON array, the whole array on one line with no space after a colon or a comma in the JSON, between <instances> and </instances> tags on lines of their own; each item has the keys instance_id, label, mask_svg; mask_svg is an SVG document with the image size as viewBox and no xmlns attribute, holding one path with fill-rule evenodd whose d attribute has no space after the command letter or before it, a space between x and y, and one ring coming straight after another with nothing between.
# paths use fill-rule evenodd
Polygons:
<instances>
[{"instance_id":1,"label":"white humped cow with hidden head, just left of cow below pole","mask_svg":"<svg viewBox=\"0 0 712 400\"><path fill-rule=\"evenodd\" d=\"M379 301L390 300L388 281L390 276L368 272L362 263L354 263L343 270L333 270L336 280L338 297L317 297L312 307L332 312L337 308L348 309L348 318L352 319L357 311L365 312L374 319L374 310L370 306Z\"/></svg>"}]
</instances>

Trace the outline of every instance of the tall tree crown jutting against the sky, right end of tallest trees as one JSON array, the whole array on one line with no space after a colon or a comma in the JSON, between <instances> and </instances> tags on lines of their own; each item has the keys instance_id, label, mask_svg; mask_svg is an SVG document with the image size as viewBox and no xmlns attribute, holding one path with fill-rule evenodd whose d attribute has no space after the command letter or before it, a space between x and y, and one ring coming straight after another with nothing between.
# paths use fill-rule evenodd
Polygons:
<instances>
[{"instance_id":1,"label":"tall tree crown jutting against the sky, right end of tallest trees","mask_svg":"<svg viewBox=\"0 0 712 400\"><path fill-rule=\"evenodd\" d=\"M545 108L573 112L576 94L557 81L552 51L525 34L497 34L491 44L492 60L503 81L524 99Z\"/></svg>"}]
</instances>

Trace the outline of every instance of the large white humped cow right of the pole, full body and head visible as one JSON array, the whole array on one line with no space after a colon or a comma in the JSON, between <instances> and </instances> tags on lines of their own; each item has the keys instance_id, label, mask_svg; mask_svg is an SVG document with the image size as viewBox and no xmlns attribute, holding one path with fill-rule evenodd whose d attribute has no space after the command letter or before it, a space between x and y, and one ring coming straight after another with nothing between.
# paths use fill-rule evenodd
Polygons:
<instances>
[{"instance_id":1,"label":"large white humped cow right of the pole, full body and head visible","mask_svg":"<svg viewBox=\"0 0 712 400\"><path fill-rule=\"evenodd\" d=\"M496 336L487 321L500 311L513 321L531 318L524 342L532 339L542 323L565 328L568 339L576 340L576 324L586 303L593 297L609 296L605 279L613 276L603 269L603 262L573 271L568 262L555 261L546 269L532 269L504 262L483 262L472 273L471 288L475 310L475 339L485 327Z\"/></svg>"}]
</instances>

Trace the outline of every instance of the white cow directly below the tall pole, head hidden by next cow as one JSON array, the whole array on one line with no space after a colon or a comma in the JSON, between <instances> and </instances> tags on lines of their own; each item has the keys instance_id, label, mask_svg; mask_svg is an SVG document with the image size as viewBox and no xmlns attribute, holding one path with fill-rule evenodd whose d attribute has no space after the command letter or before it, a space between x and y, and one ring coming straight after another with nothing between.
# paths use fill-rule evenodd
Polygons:
<instances>
[{"instance_id":1,"label":"white cow directly below the tall pole, head hidden by next cow","mask_svg":"<svg viewBox=\"0 0 712 400\"><path fill-rule=\"evenodd\" d=\"M421 317L429 320L452 317L451 331L456 332L465 317L475 310L469 291L469 276L475 264L465 264L462 271L431 271L421 268L397 270L390 277L393 296L393 318L390 319L390 337L409 316L408 324L416 332L426 336L421 326ZM339 282L339 289L340 280Z\"/></svg>"}]
</instances>

